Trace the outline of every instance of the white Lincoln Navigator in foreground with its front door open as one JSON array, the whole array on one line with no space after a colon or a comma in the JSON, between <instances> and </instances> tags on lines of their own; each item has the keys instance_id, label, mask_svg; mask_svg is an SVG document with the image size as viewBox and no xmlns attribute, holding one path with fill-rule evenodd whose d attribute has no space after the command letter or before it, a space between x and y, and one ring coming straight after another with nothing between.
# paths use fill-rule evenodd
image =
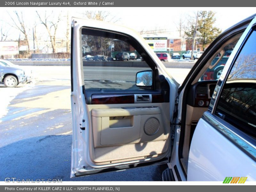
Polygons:
<instances>
[{"instance_id":1,"label":"white Lincoln Navigator in foreground with its front door open","mask_svg":"<svg viewBox=\"0 0 256 192\"><path fill-rule=\"evenodd\" d=\"M80 58L81 47L71 45L71 177L168 164L163 180L255 181L255 16L222 32L181 85L136 31L72 18L75 45L82 44L81 31L84 36L125 40L143 56L147 68L103 66L95 74L108 69L111 80L103 76L104 84L90 84L92 77L83 78L88 67ZM220 78L201 80L207 68L217 65L216 55L224 55L224 48L234 42ZM120 71L134 80L122 80Z\"/></svg>"}]
</instances>

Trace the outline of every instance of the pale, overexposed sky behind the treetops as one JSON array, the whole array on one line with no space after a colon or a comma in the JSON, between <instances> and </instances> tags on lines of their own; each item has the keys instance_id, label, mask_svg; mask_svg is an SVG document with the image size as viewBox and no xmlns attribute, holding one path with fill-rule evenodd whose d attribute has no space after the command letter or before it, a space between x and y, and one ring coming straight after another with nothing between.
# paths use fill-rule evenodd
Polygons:
<instances>
[{"instance_id":1,"label":"pale, overexposed sky behind the treetops","mask_svg":"<svg viewBox=\"0 0 256 192\"><path fill-rule=\"evenodd\" d=\"M216 12L216 23L215 26L220 28L222 31L236 24L237 22L245 19L246 17L251 16L256 13L255 8L233 8L233 7L225 7L225 8L184 8L184 7L115 7L115 8L44 8L44 7L33 7L33 8L6 8L6 11L2 11L0 13L0 23L1 27L4 29L10 29L8 31L9 39L18 39L19 31L11 28L12 21L10 19L13 16L14 10L23 11L24 12L24 20L26 21L29 28L32 29L32 24L35 22L39 26L40 35L47 36L46 30L44 26L40 25L40 22L37 20L37 16L35 11L69 11L70 12L70 21L71 17L83 17L81 12L85 10L91 11L109 11L109 18L114 17L115 20L118 19L116 24L123 25L129 28L133 28L136 31L141 30L152 30L152 29L166 29L171 36L178 36L177 23L180 18L186 22L190 20L192 22L193 18L195 18L196 12L200 10L214 11ZM11 16L9 14L11 14ZM60 24L60 27L57 32L57 36L59 38L64 38L66 33L66 21ZM31 30L32 34L32 30ZM31 35L32 38L32 35Z\"/></svg>"}]
</instances>

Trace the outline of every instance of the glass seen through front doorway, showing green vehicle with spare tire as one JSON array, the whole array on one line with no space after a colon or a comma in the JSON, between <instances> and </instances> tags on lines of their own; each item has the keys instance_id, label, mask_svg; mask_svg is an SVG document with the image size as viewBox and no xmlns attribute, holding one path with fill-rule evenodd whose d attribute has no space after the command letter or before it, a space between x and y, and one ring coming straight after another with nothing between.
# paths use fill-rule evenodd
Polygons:
<instances>
[{"instance_id":1,"label":"glass seen through front doorway, showing green vehicle with spare tire","mask_svg":"<svg viewBox=\"0 0 256 192\"><path fill-rule=\"evenodd\" d=\"M238 40L224 47L225 53L223 56L221 55L221 53L216 54L215 58L212 60L211 65L209 66L209 68L207 68L207 70L204 72L204 75L200 78L200 81L218 80L220 78L220 74L222 73L222 70L228 61L229 55L236 46L237 41ZM226 53L229 53L229 55L227 56Z\"/></svg>"}]
</instances>

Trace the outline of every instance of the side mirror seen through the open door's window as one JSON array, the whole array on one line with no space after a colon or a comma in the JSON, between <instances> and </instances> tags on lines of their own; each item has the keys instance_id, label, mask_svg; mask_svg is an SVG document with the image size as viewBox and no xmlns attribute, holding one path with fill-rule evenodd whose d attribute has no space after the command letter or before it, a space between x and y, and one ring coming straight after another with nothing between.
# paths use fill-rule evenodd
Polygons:
<instances>
[{"instance_id":1,"label":"side mirror seen through the open door's window","mask_svg":"<svg viewBox=\"0 0 256 192\"><path fill-rule=\"evenodd\" d=\"M152 71L139 71L136 74L137 87L151 87L152 86Z\"/></svg>"}]
</instances>

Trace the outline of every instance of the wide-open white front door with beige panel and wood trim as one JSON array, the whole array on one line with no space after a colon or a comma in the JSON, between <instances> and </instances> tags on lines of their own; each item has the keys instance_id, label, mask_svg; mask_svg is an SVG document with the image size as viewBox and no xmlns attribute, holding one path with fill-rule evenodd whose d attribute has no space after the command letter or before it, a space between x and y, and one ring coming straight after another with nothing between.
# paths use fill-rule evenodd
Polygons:
<instances>
[{"instance_id":1,"label":"wide-open white front door with beige panel and wood trim","mask_svg":"<svg viewBox=\"0 0 256 192\"><path fill-rule=\"evenodd\" d=\"M77 18L71 30L71 177L167 163L178 84L137 32Z\"/></svg>"}]
</instances>

